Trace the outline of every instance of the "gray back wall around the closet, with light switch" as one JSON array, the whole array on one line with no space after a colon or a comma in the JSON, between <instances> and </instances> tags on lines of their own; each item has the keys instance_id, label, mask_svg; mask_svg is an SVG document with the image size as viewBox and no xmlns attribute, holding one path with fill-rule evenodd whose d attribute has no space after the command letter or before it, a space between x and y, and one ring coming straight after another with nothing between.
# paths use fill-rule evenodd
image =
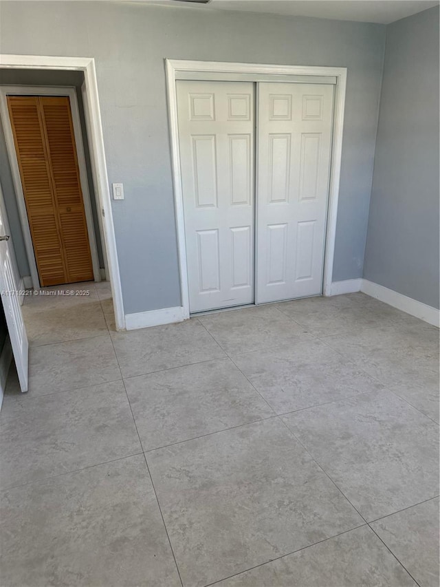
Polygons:
<instances>
[{"instance_id":1,"label":"gray back wall around the closet, with light switch","mask_svg":"<svg viewBox=\"0 0 440 587\"><path fill-rule=\"evenodd\" d=\"M96 59L126 313L179 306L164 58L348 67L334 280L362 276L384 25L214 11L209 6L10 2L4 53Z\"/></svg>"}]
</instances>

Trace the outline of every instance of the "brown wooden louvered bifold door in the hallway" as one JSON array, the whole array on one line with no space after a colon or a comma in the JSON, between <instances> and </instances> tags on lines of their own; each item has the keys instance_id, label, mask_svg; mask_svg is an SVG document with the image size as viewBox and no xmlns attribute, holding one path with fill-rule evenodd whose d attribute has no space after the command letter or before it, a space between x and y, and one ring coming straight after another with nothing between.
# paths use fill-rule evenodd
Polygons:
<instances>
[{"instance_id":1,"label":"brown wooden louvered bifold door in the hallway","mask_svg":"<svg viewBox=\"0 0 440 587\"><path fill-rule=\"evenodd\" d=\"M94 279L67 96L8 96L41 286Z\"/></svg>"}]
</instances>

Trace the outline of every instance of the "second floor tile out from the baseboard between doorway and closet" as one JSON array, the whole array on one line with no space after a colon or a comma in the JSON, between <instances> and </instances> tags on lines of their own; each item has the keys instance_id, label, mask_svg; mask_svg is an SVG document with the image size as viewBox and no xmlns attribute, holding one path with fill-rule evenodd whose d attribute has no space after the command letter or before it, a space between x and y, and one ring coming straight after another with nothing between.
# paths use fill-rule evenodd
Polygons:
<instances>
[{"instance_id":1,"label":"second floor tile out from the baseboard between doorway and closet","mask_svg":"<svg viewBox=\"0 0 440 587\"><path fill-rule=\"evenodd\" d=\"M144 450L273 416L230 359L125 379Z\"/></svg>"}]
</instances>

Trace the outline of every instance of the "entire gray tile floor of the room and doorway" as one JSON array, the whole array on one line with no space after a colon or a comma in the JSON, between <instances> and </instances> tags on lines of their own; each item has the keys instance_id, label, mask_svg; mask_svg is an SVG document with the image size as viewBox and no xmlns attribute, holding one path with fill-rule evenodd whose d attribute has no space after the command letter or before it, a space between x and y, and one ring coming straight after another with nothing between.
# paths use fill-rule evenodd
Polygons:
<instances>
[{"instance_id":1,"label":"entire gray tile floor of the room and doorway","mask_svg":"<svg viewBox=\"0 0 440 587\"><path fill-rule=\"evenodd\" d=\"M439 585L439 337L363 294L115 332L32 297L0 584Z\"/></svg>"}]
</instances>

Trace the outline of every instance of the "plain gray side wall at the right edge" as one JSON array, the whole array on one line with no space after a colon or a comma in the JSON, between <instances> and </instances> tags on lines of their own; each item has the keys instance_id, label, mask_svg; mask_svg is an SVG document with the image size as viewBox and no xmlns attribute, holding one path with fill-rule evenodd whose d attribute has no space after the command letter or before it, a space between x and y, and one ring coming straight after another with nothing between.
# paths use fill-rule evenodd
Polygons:
<instances>
[{"instance_id":1,"label":"plain gray side wall at the right edge","mask_svg":"<svg viewBox=\"0 0 440 587\"><path fill-rule=\"evenodd\" d=\"M439 308L439 8L387 28L364 277Z\"/></svg>"}]
</instances>

